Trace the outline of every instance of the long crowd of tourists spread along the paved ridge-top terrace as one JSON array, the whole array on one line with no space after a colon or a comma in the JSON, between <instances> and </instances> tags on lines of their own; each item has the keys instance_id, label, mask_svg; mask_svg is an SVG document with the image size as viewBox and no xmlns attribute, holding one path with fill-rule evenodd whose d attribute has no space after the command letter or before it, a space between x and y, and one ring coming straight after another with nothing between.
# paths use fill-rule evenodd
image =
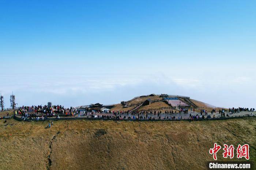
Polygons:
<instances>
[{"instance_id":1,"label":"long crowd of tourists spread along the paved ridge-top terrace","mask_svg":"<svg viewBox=\"0 0 256 170\"><path fill-rule=\"evenodd\" d=\"M179 110L151 110L151 111L111 111L109 109L105 109L103 111L95 111L93 108L87 108L84 111L79 110L78 108L64 108L62 105L53 105L48 107L47 105L32 105L32 106L22 106L18 110L15 111L15 115L19 115L22 120L46 120L48 117L56 117L60 119L61 117L87 117L87 118L98 118L98 119L131 119L131 120L174 120L174 119L183 119L181 115L175 116L175 114L179 113L188 113L189 109L192 112L195 112L195 109L192 108L180 108ZM230 117L230 114L238 113L241 111L255 111L254 108L229 108L219 109L218 113L220 117ZM226 113L225 113L226 112ZM228 113L227 113L228 112ZM99 113L108 113L108 114L99 114ZM200 113L197 115L189 115L189 119L196 120L196 119L208 119L208 112L205 109L201 109ZM217 111L216 109L211 110L212 117L216 117ZM163 114L166 114L163 115ZM169 116L170 114L170 116ZM186 119L188 117L186 116Z\"/></svg>"}]
</instances>

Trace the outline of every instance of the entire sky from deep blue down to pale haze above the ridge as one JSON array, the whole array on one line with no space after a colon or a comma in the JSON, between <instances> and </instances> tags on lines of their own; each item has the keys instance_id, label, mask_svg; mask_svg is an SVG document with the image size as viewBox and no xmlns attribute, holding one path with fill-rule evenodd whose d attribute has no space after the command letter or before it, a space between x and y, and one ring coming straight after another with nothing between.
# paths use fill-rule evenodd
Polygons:
<instances>
[{"instance_id":1,"label":"entire sky from deep blue down to pale haze above the ridge","mask_svg":"<svg viewBox=\"0 0 256 170\"><path fill-rule=\"evenodd\" d=\"M9 107L168 93L256 107L256 1L0 1Z\"/></svg>"}]
</instances>

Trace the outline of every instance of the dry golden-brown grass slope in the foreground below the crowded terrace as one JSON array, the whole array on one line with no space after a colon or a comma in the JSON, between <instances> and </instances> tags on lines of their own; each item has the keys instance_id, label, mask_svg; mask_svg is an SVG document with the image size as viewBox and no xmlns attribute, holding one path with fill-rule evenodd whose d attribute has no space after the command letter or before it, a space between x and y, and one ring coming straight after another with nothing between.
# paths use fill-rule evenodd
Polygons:
<instances>
[{"instance_id":1,"label":"dry golden-brown grass slope in the foreground below the crowded terrace","mask_svg":"<svg viewBox=\"0 0 256 170\"><path fill-rule=\"evenodd\" d=\"M250 160L256 158L255 117L194 122L55 121L45 129L47 124L0 120L0 169L46 169L50 150L50 169L206 169L206 161L213 160L208 151L214 142L221 146L248 143ZM97 136L99 129L106 134ZM222 151L218 160L224 160Z\"/></svg>"}]
</instances>

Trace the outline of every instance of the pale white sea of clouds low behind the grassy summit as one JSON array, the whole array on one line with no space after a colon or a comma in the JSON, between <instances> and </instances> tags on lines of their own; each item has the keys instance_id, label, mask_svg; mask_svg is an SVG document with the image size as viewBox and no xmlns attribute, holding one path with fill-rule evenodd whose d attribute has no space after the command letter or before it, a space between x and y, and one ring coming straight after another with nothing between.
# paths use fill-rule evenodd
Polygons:
<instances>
[{"instance_id":1,"label":"pale white sea of clouds low behind the grassy summit","mask_svg":"<svg viewBox=\"0 0 256 170\"><path fill-rule=\"evenodd\" d=\"M184 72L158 72L147 74L98 74L95 76L49 75L14 76L13 81L5 76L1 88L5 108L10 107L9 96L16 95L21 105L53 104L79 106L91 103L113 104L146 94L178 94L190 96L217 107L255 107L253 91L255 79L218 74L188 76ZM177 73L177 72L176 72ZM208 78L207 78L208 76ZM209 78L210 77L210 78ZM242 90L241 90L242 89Z\"/></svg>"}]
</instances>

